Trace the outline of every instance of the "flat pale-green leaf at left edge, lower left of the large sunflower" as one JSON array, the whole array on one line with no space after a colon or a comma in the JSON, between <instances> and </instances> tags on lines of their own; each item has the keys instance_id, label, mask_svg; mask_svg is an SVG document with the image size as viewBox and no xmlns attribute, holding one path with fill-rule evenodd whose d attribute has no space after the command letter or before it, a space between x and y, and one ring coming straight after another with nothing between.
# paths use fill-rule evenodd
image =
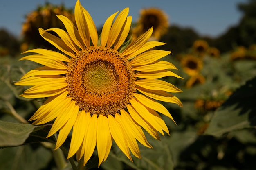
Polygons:
<instances>
[{"instance_id":1,"label":"flat pale-green leaf at left edge, lower left of the large sunflower","mask_svg":"<svg viewBox=\"0 0 256 170\"><path fill-rule=\"evenodd\" d=\"M0 120L0 147L20 146L36 126Z\"/></svg>"}]
</instances>

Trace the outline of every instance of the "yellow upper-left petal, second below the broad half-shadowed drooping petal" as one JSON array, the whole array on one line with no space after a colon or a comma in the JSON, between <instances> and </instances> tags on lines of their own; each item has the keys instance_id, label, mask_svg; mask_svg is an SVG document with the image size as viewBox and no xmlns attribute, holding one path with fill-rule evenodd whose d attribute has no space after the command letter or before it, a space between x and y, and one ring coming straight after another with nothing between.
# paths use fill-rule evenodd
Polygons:
<instances>
[{"instance_id":1,"label":"yellow upper-left petal, second below the broad half-shadowed drooping petal","mask_svg":"<svg viewBox=\"0 0 256 170\"><path fill-rule=\"evenodd\" d=\"M34 54L34 55L28 55L25 57L22 57L20 60L30 60L34 61L36 63L45 65L50 68L56 68L56 69L67 69L67 65L65 65L63 62L54 60L54 58L51 56L44 56L41 54Z\"/></svg>"}]
</instances>

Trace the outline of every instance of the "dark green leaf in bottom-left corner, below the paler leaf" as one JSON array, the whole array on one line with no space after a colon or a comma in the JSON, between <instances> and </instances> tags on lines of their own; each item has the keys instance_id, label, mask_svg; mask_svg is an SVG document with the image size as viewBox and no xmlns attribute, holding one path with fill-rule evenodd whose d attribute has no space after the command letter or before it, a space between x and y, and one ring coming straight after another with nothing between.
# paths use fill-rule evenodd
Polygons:
<instances>
[{"instance_id":1,"label":"dark green leaf in bottom-left corner, below the paler leaf","mask_svg":"<svg viewBox=\"0 0 256 170\"><path fill-rule=\"evenodd\" d=\"M51 161L52 153L43 146L24 145L1 149L0 158L0 170L41 170Z\"/></svg>"}]
</instances>

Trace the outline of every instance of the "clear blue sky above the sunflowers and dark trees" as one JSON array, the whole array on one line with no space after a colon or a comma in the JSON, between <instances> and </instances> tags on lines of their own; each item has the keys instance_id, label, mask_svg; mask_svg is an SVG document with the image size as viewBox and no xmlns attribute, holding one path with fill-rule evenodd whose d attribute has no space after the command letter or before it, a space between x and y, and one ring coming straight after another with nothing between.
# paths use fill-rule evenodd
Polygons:
<instances>
[{"instance_id":1,"label":"clear blue sky above the sunflowers and dark trees","mask_svg":"<svg viewBox=\"0 0 256 170\"><path fill-rule=\"evenodd\" d=\"M14 35L20 35L25 15L45 2L65 4L73 8L76 0L0 0L0 28L6 28ZM242 13L238 3L247 0L80 0L92 16L96 26L101 26L108 16L129 7L129 15L135 22L139 10L158 7L169 17L172 25L194 28L200 35L212 37L224 33L229 26L238 24Z\"/></svg>"}]
</instances>

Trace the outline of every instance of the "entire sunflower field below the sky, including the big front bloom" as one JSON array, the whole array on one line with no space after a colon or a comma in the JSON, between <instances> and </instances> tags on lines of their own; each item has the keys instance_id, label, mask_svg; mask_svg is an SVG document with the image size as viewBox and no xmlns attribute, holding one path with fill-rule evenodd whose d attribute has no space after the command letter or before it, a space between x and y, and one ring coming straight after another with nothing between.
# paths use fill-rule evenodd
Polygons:
<instances>
[{"instance_id":1,"label":"entire sunflower field below the sky, including the big front bloom","mask_svg":"<svg viewBox=\"0 0 256 170\"><path fill-rule=\"evenodd\" d=\"M124 9L99 31L79 0L74 10L47 3L29 13L21 40L0 29L0 170L254 170L251 6L215 39L172 26L158 8L137 21Z\"/></svg>"}]
</instances>

